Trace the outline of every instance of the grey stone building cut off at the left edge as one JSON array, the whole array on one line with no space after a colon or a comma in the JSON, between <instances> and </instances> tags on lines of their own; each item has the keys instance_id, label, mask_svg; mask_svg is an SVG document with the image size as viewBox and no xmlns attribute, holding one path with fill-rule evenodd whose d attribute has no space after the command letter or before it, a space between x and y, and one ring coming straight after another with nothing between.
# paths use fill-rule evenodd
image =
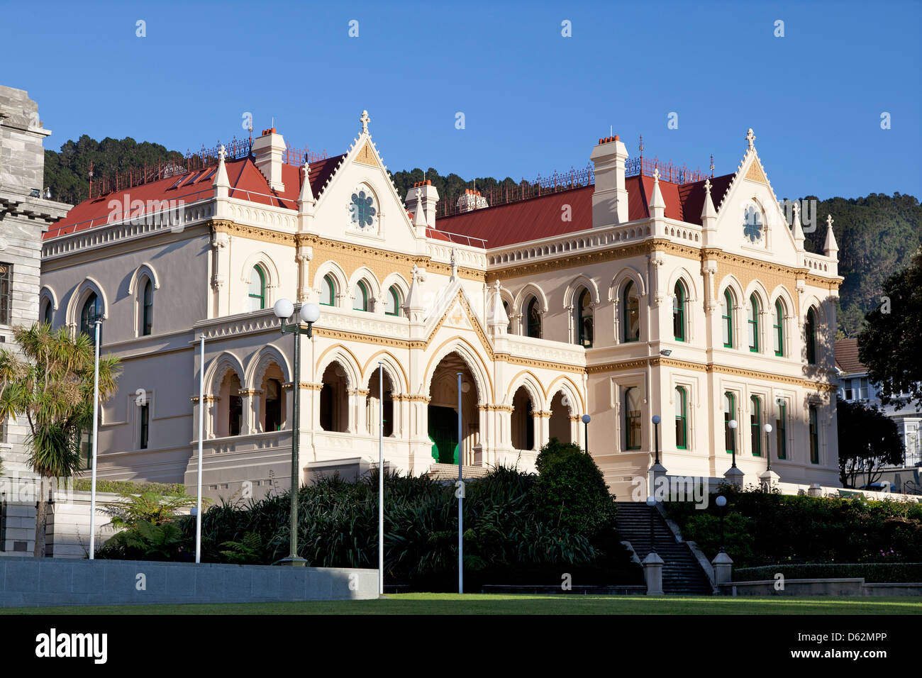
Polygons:
<instances>
[{"instance_id":1,"label":"grey stone building cut off at the left edge","mask_svg":"<svg viewBox=\"0 0 922 678\"><path fill-rule=\"evenodd\" d=\"M44 188L42 141L50 134L25 90L0 86L0 342L6 347L13 327L39 319L42 233L71 208ZM0 425L0 556L31 553L36 498L24 491L34 478L26 463L28 428L22 419Z\"/></svg>"}]
</instances>

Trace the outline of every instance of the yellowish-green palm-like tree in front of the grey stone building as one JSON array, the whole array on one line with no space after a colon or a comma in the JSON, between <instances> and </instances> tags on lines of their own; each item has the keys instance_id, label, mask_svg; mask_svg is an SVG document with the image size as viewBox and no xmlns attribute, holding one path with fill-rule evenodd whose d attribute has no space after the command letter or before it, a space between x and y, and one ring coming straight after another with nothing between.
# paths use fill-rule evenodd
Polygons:
<instances>
[{"instance_id":1,"label":"yellowish-green palm-like tree in front of the grey stone building","mask_svg":"<svg viewBox=\"0 0 922 678\"><path fill-rule=\"evenodd\" d=\"M80 470L80 436L93 422L95 345L84 334L71 338L65 327L47 324L13 330L19 355L0 350L0 417L25 416L29 463L42 488L53 478ZM119 359L100 357L100 405L115 391ZM45 554L48 496L39 495L35 556Z\"/></svg>"}]
</instances>

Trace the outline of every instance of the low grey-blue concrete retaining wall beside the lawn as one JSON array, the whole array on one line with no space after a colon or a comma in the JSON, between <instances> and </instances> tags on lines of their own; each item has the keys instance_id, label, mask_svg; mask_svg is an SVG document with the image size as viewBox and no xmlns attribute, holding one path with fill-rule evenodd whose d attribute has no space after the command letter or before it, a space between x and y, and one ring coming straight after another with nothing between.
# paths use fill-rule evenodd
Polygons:
<instances>
[{"instance_id":1,"label":"low grey-blue concrete retaining wall beside the lawn","mask_svg":"<svg viewBox=\"0 0 922 678\"><path fill-rule=\"evenodd\" d=\"M378 571L335 567L0 559L0 607L370 600Z\"/></svg>"}]
</instances>

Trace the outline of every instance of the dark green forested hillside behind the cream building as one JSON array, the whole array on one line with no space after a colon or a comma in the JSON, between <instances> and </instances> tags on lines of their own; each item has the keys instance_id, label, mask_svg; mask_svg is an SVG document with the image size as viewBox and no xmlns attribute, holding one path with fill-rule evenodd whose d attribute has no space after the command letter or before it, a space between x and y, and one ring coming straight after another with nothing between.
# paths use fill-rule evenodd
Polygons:
<instances>
[{"instance_id":1,"label":"dark green forested hillside behind the cream building","mask_svg":"<svg viewBox=\"0 0 922 678\"><path fill-rule=\"evenodd\" d=\"M61 151L45 151L45 186L55 200L77 204L89 196L89 163L94 179L124 172L129 167L156 164L184 154L160 144L137 143L131 137L96 141L84 135L68 141ZM531 179L533 177L529 177ZM455 173L442 175L429 168L395 172L394 184L400 196L407 196L415 182L428 179L442 200L454 204L465 188L476 184L481 191L497 185L518 185L511 177L464 180ZM805 199L816 200L815 196ZM855 337L865 313L880 303L881 284L892 272L908 266L910 257L922 246L922 206L914 196L873 193L867 197L833 197L817 200L817 227L807 233L807 248L822 253L826 238L825 215L833 215L835 239L839 244L839 274L845 277L840 290L838 326L846 337Z\"/></svg>"}]
</instances>

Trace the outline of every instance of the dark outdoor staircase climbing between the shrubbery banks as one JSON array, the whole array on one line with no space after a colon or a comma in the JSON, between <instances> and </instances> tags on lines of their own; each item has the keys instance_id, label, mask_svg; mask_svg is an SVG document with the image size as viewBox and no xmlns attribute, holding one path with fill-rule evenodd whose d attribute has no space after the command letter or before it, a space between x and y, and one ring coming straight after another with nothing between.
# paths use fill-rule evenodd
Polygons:
<instances>
[{"instance_id":1,"label":"dark outdoor staircase climbing between the shrubbery banks","mask_svg":"<svg viewBox=\"0 0 922 678\"><path fill-rule=\"evenodd\" d=\"M656 553L663 559L663 592L710 596L714 587L698 563L691 547L676 541L675 535L656 508L641 502L618 502L618 530L624 541L630 541L641 560L650 553L650 520Z\"/></svg>"}]
</instances>

